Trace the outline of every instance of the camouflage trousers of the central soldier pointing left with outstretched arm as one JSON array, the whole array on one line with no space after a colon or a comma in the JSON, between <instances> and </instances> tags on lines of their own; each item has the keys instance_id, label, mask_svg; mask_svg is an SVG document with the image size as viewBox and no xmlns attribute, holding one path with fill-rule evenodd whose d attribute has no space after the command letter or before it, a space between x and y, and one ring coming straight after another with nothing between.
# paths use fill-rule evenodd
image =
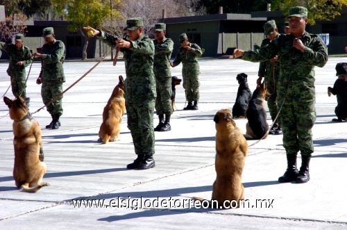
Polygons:
<instances>
[{"instance_id":1,"label":"camouflage trousers of the central soldier pointing left with outstretched arm","mask_svg":"<svg viewBox=\"0 0 347 230\"><path fill-rule=\"evenodd\" d=\"M153 113L155 98L139 101L136 98L126 100L126 115L135 147L135 154L154 154Z\"/></svg>"}]
</instances>

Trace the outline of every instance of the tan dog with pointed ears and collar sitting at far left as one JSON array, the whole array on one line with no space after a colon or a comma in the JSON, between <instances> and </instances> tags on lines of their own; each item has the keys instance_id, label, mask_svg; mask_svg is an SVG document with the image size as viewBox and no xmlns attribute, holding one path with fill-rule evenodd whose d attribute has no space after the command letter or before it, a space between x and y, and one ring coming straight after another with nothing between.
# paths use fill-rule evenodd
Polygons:
<instances>
[{"instance_id":1,"label":"tan dog with pointed ears and collar sitting at far left","mask_svg":"<svg viewBox=\"0 0 347 230\"><path fill-rule=\"evenodd\" d=\"M43 163L42 135L39 124L28 113L28 107L21 97L11 100L3 97L3 101L10 110L13 120L12 128L15 138L15 166L13 178L21 191L37 192L49 183L42 182L46 173L46 164Z\"/></svg>"}]
</instances>

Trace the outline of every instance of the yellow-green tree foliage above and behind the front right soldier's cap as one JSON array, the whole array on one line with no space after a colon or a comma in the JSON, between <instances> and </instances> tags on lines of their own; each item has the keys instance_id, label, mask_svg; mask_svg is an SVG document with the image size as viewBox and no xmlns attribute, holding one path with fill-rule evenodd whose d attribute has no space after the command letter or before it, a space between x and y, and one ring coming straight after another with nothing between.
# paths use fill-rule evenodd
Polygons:
<instances>
[{"instance_id":1,"label":"yellow-green tree foliage above and behind the front right soldier's cap","mask_svg":"<svg viewBox=\"0 0 347 230\"><path fill-rule=\"evenodd\" d=\"M293 6L305 6L308 24L314 25L316 21L330 21L341 15L339 10L347 6L347 0L273 0L271 10L283 10L283 14L288 15Z\"/></svg>"}]
</instances>

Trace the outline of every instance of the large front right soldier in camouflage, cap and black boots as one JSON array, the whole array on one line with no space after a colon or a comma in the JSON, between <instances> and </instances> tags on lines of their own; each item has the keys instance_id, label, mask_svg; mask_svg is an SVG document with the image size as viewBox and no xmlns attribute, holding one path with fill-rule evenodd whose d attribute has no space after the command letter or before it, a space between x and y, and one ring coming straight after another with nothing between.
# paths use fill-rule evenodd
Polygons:
<instances>
[{"instance_id":1,"label":"large front right soldier in camouflage, cap and black boots","mask_svg":"<svg viewBox=\"0 0 347 230\"><path fill-rule=\"evenodd\" d=\"M323 67L328 61L328 48L318 35L305 31L307 8L289 10L290 35L281 35L256 51L235 49L234 57L261 62L278 55L280 78L277 87L278 108L283 104L280 123L283 147L288 167L280 182L310 180L309 164L314 151L312 126L316 120L314 66ZM301 151L301 168L296 168L296 155Z\"/></svg>"}]
</instances>

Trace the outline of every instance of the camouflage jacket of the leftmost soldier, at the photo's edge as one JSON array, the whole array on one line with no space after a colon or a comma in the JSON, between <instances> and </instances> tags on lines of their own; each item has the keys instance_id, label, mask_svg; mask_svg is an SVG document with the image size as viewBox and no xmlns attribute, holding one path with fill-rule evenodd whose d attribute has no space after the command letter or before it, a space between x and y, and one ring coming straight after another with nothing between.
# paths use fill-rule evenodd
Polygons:
<instances>
[{"instance_id":1,"label":"camouflage jacket of the leftmost soldier, at the photo's edge","mask_svg":"<svg viewBox=\"0 0 347 230\"><path fill-rule=\"evenodd\" d=\"M15 44L6 44L4 42L0 42L0 48L10 56L10 65L8 65L7 69L8 74L11 75L15 72L25 74L25 67L33 61L29 48L22 45L21 49L17 49ZM23 65L17 65L19 61L22 61Z\"/></svg>"}]
</instances>

